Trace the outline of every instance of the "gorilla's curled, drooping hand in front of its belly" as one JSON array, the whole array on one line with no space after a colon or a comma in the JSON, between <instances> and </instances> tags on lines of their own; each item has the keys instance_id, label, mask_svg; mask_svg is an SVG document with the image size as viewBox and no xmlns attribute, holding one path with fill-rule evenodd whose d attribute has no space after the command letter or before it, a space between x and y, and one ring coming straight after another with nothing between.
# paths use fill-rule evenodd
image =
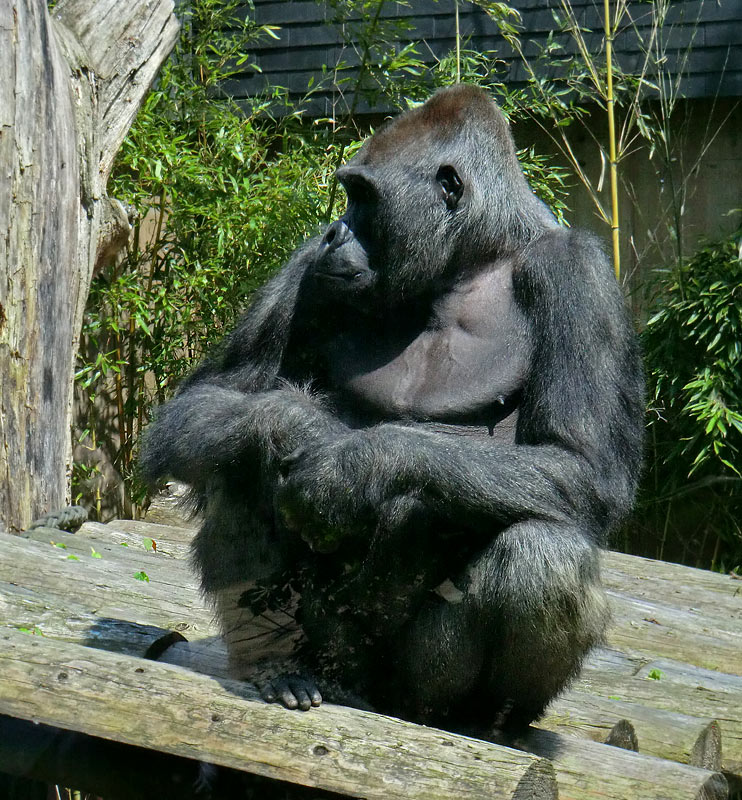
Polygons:
<instances>
[{"instance_id":1,"label":"gorilla's curled, drooping hand in front of its belly","mask_svg":"<svg viewBox=\"0 0 742 800\"><path fill-rule=\"evenodd\" d=\"M391 487L388 473L375 469L375 444L371 432L352 431L282 460L278 513L313 550L333 552L345 539L376 527Z\"/></svg>"}]
</instances>

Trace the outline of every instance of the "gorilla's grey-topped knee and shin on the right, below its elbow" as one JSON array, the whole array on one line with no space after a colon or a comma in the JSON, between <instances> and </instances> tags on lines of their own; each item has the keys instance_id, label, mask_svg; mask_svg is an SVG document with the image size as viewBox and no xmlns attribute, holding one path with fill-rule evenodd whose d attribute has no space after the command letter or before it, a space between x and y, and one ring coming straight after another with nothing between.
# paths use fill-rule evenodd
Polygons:
<instances>
[{"instance_id":1,"label":"gorilla's grey-topped knee and shin on the right, below its elbow","mask_svg":"<svg viewBox=\"0 0 742 800\"><path fill-rule=\"evenodd\" d=\"M538 717L603 638L598 550L579 530L539 522L504 531L472 575L494 617L491 691L514 724Z\"/></svg>"}]
</instances>

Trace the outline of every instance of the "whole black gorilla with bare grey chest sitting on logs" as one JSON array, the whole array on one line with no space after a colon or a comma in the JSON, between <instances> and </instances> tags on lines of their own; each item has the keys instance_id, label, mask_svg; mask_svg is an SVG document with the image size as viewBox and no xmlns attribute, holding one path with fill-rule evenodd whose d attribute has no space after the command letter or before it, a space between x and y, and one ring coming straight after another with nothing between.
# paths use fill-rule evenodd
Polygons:
<instances>
[{"instance_id":1,"label":"whole black gorilla with bare grey chest sitting on logs","mask_svg":"<svg viewBox=\"0 0 742 800\"><path fill-rule=\"evenodd\" d=\"M600 641L642 374L589 235L459 85L375 133L300 247L158 413L235 674L452 730L517 731Z\"/></svg>"}]
</instances>

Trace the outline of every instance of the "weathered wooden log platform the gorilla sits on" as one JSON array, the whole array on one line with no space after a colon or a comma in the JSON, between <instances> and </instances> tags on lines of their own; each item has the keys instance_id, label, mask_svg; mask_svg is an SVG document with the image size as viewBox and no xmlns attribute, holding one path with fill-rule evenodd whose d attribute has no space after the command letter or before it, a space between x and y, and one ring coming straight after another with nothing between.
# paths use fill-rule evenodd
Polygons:
<instances>
[{"instance_id":1,"label":"weathered wooden log platform the gorilla sits on","mask_svg":"<svg viewBox=\"0 0 742 800\"><path fill-rule=\"evenodd\" d=\"M63 729L146 748L134 769L149 774L151 757L181 784L190 759L379 800L742 797L742 580L606 554L608 646L513 749L261 702L226 677L192 535L127 520L0 535L0 772L53 779L36 755ZM144 660L169 632L187 640L165 652L174 663Z\"/></svg>"}]
</instances>

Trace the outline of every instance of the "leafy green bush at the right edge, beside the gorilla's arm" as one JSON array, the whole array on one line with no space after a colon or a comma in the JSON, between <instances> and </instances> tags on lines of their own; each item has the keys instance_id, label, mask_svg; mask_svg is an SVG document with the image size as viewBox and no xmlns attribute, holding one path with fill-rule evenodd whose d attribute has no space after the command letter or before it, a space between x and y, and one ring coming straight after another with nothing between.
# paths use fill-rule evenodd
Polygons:
<instances>
[{"instance_id":1,"label":"leafy green bush at the right edge, beside the gorilla's arm","mask_svg":"<svg viewBox=\"0 0 742 800\"><path fill-rule=\"evenodd\" d=\"M741 243L738 231L672 270L643 333L652 445L647 502L667 520L673 504L686 517L700 506L698 524L726 543L735 563L742 559Z\"/></svg>"}]
</instances>

